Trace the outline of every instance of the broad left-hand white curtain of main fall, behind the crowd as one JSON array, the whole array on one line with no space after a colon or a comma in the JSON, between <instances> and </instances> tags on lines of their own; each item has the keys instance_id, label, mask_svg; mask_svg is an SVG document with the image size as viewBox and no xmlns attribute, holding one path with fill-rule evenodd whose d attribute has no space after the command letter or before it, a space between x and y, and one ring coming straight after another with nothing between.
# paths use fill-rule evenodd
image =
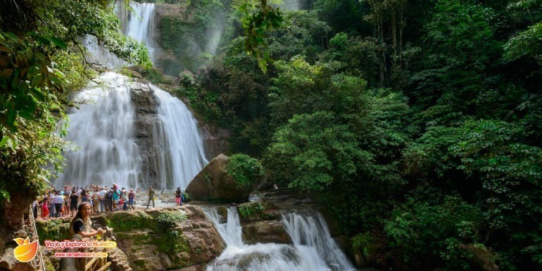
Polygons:
<instances>
[{"instance_id":1,"label":"broad left-hand white curtain of main fall, behind the crowd","mask_svg":"<svg viewBox=\"0 0 542 271\"><path fill-rule=\"evenodd\" d=\"M65 151L65 172L56 179L56 187L68 182L84 187L89 184L135 187L141 176L141 158L134 142L134 108L130 100L128 78L118 73L103 73L75 97L84 103L68 113L67 141L79 146Z\"/></svg>"}]
</instances>

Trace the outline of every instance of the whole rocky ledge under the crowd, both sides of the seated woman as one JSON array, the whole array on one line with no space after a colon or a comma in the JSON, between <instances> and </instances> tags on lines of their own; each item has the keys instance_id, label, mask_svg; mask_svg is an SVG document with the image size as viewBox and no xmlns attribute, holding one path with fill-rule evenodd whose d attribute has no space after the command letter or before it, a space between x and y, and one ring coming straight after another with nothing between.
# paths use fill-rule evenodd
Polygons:
<instances>
[{"instance_id":1,"label":"whole rocky ledge under the crowd, both sides of the seated woman","mask_svg":"<svg viewBox=\"0 0 542 271\"><path fill-rule=\"evenodd\" d=\"M225 242L197 206L105 213L92 218L113 228L118 250L108 251L111 270L203 270ZM69 220L37 223L40 240L64 239ZM55 260L53 261L53 265Z\"/></svg>"}]
</instances>

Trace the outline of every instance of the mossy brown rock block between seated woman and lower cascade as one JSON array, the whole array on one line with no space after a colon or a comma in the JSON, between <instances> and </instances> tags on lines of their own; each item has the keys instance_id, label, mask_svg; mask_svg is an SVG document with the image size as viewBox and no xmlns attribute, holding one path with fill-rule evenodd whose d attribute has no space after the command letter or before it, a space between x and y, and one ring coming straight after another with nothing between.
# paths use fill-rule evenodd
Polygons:
<instances>
[{"instance_id":1,"label":"mossy brown rock block between seated woman and lower cascade","mask_svg":"<svg viewBox=\"0 0 542 271\"><path fill-rule=\"evenodd\" d=\"M160 216L181 212L187 219L163 227ZM196 206L165 208L143 212L111 215L111 226L117 232L117 244L134 271L172 270L205 265L222 253L225 243L213 224ZM123 227L130 227L124 229ZM114 229L113 232L116 232Z\"/></svg>"}]
</instances>

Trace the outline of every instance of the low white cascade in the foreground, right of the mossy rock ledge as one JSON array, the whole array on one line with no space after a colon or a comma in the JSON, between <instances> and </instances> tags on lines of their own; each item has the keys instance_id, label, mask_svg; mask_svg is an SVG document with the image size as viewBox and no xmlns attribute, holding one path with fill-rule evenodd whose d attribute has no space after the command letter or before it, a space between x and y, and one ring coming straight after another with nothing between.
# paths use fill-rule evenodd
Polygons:
<instances>
[{"instance_id":1,"label":"low white cascade in the foreground, right of the mossy rock ledge","mask_svg":"<svg viewBox=\"0 0 542 271\"><path fill-rule=\"evenodd\" d=\"M294 241L289 244L244 244L241 223L235 207L227 211L227 221L221 222L216 209L206 215L225 240L227 248L209 263L207 271L348 271L355 270L336 246L322 216L318 213L284 213L282 224Z\"/></svg>"}]
</instances>

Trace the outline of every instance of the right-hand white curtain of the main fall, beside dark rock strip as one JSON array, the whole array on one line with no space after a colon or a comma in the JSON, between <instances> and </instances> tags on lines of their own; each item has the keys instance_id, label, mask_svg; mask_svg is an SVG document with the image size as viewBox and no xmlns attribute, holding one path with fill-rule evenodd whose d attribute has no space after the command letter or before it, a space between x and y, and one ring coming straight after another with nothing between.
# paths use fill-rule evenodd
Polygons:
<instances>
[{"instance_id":1,"label":"right-hand white curtain of the main fall, beside dark rock strip","mask_svg":"<svg viewBox=\"0 0 542 271\"><path fill-rule=\"evenodd\" d=\"M172 176L174 185L163 186L163 189L181 187L184 190L208 163L203 140L198 132L194 116L184 103L158 87L151 85L151 89L160 103L158 106L159 130L163 130L165 134L165 141L160 142L160 146L163 146L165 151L160 153L159 160L170 163L170 166L160 167L158 177L163 179L165 176ZM171 172L167 172L168 169ZM160 184L166 184L167 181L163 179Z\"/></svg>"}]
</instances>

